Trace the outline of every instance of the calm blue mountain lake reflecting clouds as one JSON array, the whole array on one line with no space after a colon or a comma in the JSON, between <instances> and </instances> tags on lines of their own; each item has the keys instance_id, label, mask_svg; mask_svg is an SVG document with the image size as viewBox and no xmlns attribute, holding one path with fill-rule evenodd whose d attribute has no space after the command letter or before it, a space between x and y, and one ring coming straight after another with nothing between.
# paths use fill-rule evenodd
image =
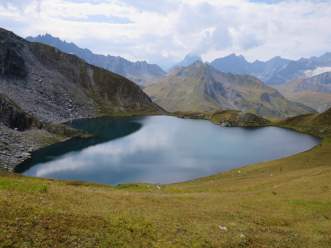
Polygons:
<instances>
[{"instance_id":1,"label":"calm blue mountain lake reflecting clouds","mask_svg":"<svg viewBox=\"0 0 331 248\"><path fill-rule=\"evenodd\" d=\"M67 125L95 134L32 153L27 176L117 185L175 183L289 156L319 139L277 127L220 127L170 116L111 117Z\"/></svg>"}]
</instances>

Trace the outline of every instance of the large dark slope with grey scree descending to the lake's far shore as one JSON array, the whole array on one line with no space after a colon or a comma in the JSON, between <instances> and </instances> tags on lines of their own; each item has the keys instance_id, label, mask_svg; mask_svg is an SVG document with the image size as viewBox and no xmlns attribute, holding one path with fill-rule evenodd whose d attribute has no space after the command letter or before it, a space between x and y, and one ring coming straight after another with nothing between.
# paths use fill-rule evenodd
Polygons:
<instances>
[{"instance_id":1,"label":"large dark slope with grey scree descending to the lake's far shore","mask_svg":"<svg viewBox=\"0 0 331 248\"><path fill-rule=\"evenodd\" d=\"M161 114L130 80L0 29L0 92L41 121Z\"/></svg>"}]
</instances>

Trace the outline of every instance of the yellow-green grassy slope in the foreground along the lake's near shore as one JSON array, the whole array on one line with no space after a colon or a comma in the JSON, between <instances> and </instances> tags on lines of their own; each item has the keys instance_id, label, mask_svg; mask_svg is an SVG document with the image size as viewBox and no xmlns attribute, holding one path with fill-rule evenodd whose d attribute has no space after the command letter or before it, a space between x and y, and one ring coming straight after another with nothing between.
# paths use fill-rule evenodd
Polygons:
<instances>
[{"instance_id":1,"label":"yellow-green grassy slope in the foreground along the lake's near shore","mask_svg":"<svg viewBox=\"0 0 331 248\"><path fill-rule=\"evenodd\" d=\"M160 190L1 173L1 245L330 247L330 112L266 123L318 135L321 146Z\"/></svg>"}]
</instances>

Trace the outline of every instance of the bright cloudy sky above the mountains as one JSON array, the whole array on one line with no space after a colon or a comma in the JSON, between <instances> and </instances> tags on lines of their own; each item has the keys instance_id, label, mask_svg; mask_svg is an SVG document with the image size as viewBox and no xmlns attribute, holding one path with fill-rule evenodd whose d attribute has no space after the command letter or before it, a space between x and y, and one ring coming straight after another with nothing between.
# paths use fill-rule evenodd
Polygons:
<instances>
[{"instance_id":1,"label":"bright cloudy sky above the mountains","mask_svg":"<svg viewBox=\"0 0 331 248\"><path fill-rule=\"evenodd\" d=\"M187 54L298 60L331 52L331 0L0 0L0 27L163 70Z\"/></svg>"}]
</instances>

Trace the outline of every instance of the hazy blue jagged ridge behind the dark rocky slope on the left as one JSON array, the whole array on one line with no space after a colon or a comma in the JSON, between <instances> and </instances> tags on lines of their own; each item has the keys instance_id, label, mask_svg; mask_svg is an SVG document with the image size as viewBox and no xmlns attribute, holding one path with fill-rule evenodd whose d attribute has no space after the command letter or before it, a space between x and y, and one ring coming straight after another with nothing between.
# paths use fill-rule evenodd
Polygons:
<instances>
[{"instance_id":1,"label":"hazy blue jagged ridge behind the dark rocky slope on the left","mask_svg":"<svg viewBox=\"0 0 331 248\"><path fill-rule=\"evenodd\" d=\"M79 48L74 43L61 41L59 38L55 38L49 34L39 35L37 37L29 36L26 40L44 43L56 47L62 52L74 54L89 64L117 73L135 83L142 83L145 80L151 80L165 74L165 72L155 64L148 64L146 61L131 62L119 56L93 54L86 48Z\"/></svg>"}]
</instances>

